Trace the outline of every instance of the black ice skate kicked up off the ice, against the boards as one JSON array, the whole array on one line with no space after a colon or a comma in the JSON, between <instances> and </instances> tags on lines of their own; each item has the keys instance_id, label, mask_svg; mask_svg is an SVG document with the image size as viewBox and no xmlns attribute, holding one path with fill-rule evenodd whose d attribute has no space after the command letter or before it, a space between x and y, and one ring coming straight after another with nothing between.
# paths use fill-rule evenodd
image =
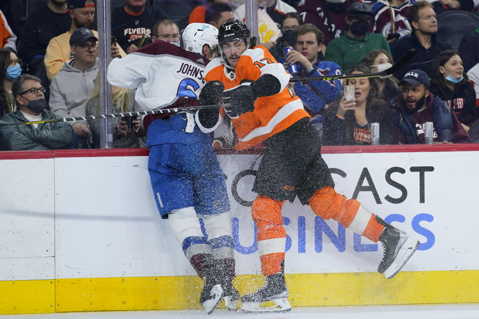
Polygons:
<instances>
[{"instance_id":1,"label":"black ice skate kicked up off the ice, against the boards","mask_svg":"<svg viewBox=\"0 0 479 319\"><path fill-rule=\"evenodd\" d=\"M419 247L418 240L390 225L384 228L379 241L383 244L384 252L378 272L387 279L393 278Z\"/></svg>"}]
</instances>

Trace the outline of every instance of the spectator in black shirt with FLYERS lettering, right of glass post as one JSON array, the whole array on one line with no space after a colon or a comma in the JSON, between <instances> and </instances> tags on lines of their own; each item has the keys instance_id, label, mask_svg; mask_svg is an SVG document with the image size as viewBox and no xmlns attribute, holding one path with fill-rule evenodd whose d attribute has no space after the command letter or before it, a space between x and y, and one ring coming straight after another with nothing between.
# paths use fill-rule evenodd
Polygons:
<instances>
[{"instance_id":1,"label":"spectator in black shirt with FLYERS lettering, right of glass post","mask_svg":"<svg viewBox=\"0 0 479 319\"><path fill-rule=\"evenodd\" d=\"M112 10L112 34L121 48L131 53L141 47L139 44L145 37L152 35L155 22L166 16L159 7L146 5L146 0L125 0L125 5Z\"/></svg>"}]
</instances>

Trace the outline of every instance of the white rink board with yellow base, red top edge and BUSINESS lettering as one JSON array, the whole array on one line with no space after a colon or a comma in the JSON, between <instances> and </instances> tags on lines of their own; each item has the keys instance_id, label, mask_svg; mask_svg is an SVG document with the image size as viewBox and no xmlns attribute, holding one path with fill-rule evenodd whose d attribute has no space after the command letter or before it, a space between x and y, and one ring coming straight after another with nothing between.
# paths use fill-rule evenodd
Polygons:
<instances>
[{"instance_id":1,"label":"white rink board with yellow base, red top edge and BUSINESS lettering","mask_svg":"<svg viewBox=\"0 0 479 319\"><path fill-rule=\"evenodd\" d=\"M262 284L245 206L255 197L247 170L257 155L228 152L218 159L232 205L235 283L244 294ZM288 202L285 272L293 306L479 303L479 146L323 148L323 154L338 192L421 245L387 280L376 272L381 247ZM199 308L202 282L156 211L147 155L0 154L0 314Z\"/></svg>"}]
</instances>

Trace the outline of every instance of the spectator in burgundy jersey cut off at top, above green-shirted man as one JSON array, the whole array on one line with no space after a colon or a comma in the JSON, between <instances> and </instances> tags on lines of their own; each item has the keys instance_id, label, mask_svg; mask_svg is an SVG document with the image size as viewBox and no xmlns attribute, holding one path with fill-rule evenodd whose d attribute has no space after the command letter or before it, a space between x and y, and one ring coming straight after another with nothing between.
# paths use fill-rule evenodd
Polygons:
<instances>
[{"instance_id":1,"label":"spectator in burgundy jersey cut off at top, above green-shirted man","mask_svg":"<svg viewBox=\"0 0 479 319\"><path fill-rule=\"evenodd\" d=\"M348 30L346 8L351 0L304 0L297 7L304 23L316 25L324 34L324 43L340 37Z\"/></svg>"}]
</instances>

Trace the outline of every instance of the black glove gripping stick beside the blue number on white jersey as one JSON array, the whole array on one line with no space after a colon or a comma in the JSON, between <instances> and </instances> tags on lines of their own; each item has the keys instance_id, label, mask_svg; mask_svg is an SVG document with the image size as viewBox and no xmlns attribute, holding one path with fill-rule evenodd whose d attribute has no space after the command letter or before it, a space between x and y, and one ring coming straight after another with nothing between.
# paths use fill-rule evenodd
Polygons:
<instances>
[{"instance_id":1,"label":"black glove gripping stick beside the blue number on white jersey","mask_svg":"<svg viewBox=\"0 0 479 319\"><path fill-rule=\"evenodd\" d=\"M223 90L225 90L225 86L220 81L207 82L200 93L200 105L220 104ZM198 119L201 125L207 129L213 128L218 123L219 116L219 108L208 108L198 111Z\"/></svg>"}]
</instances>

